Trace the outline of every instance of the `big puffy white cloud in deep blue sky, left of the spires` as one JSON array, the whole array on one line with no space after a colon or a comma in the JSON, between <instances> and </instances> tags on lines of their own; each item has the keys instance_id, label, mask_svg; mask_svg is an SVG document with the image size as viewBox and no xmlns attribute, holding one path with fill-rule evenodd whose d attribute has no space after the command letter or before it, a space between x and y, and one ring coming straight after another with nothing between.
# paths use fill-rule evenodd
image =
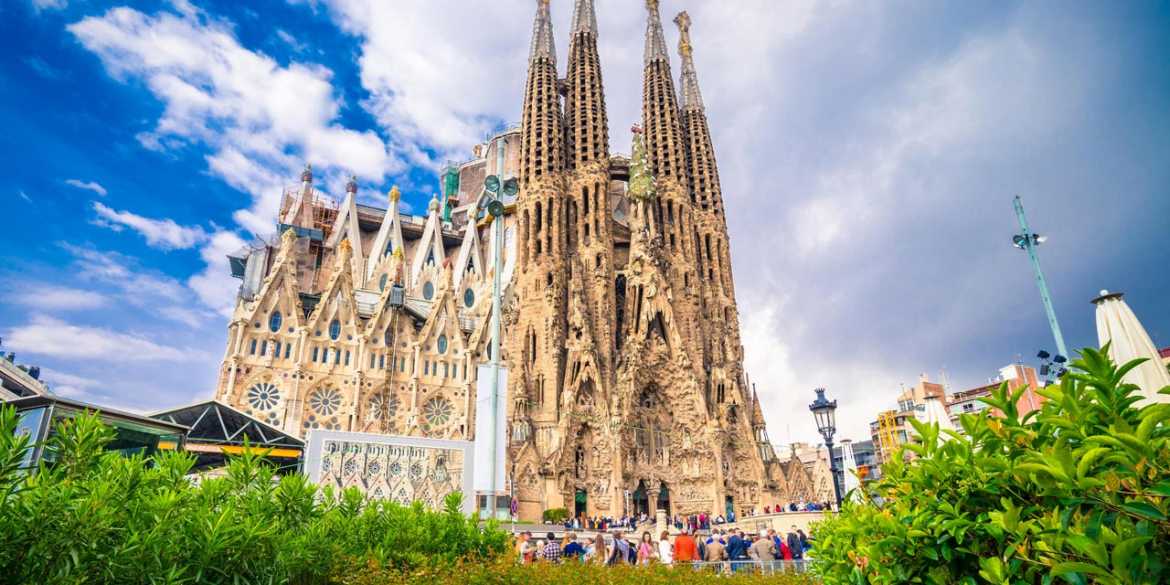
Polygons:
<instances>
[{"instance_id":1,"label":"big puffy white cloud in deep blue sky, left of the spires","mask_svg":"<svg viewBox=\"0 0 1170 585\"><path fill-rule=\"evenodd\" d=\"M163 102L154 130L139 137L144 146L211 147L211 172L253 198L236 214L243 227L271 232L281 187L307 160L323 178L353 173L377 181L402 170L377 133L335 122L342 102L329 69L281 67L242 47L229 23L191 5L179 8L178 15L113 8L68 29L112 76L143 80Z\"/></svg>"}]
</instances>

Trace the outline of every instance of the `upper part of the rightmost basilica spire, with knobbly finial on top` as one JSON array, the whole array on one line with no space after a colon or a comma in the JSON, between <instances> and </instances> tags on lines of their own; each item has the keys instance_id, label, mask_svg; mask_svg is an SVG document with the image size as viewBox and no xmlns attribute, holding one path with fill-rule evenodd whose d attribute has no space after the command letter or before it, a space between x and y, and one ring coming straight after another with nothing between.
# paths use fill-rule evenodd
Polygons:
<instances>
[{"instance_id":1,"label":"upper part of the rightmost basilica spire, with knobbly finial on top","mask_svg":"<svg viewBox=\"0 0 1170 585\"><path fill-rule=\"evenodd\" d=\"M690 15L680 12L674 19L679 25L679 56L682 57L682 128L687 151L687 177L690 179L691 200L700 208L723 212L723 191L720 186L720 168L715 163L715 146L703 110L703 97L698 92L698 75L690 44Z\"/></svg>"}]
</instances>

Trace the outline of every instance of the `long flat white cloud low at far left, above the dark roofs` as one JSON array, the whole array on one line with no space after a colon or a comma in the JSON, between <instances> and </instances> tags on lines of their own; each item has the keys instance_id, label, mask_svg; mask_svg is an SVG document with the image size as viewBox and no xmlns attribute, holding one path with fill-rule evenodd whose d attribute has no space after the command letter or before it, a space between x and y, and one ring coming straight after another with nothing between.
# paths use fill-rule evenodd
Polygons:
<instances>
[{"instance_id":1,"label":"long flat white cloud low at far left, above the dark roofs","mask_svg":"<svg viewBox=\"0 0 1170 585\"><path fill-rule=\"evenodd\" d=\"M201 352L170 347L145 337L109 329L73 325L54 317L33 316L5 336L18 351L70 359L119 362L188 362L206 359Z\"/></svg>"}]
</instances>

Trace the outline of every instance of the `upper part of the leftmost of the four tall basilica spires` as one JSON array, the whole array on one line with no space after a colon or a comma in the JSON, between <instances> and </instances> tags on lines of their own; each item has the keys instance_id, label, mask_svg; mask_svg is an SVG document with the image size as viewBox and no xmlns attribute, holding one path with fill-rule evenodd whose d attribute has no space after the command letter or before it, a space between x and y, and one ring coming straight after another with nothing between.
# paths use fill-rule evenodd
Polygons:
<instances>
[{"instance_id":1,"label":"upper part of the leftmost of the four tall basilica spires","mask_svg":"<svg viewBox=\"0 0 1170 585\"><path fill-rule=\"evenodd\" d=\"M521 183L526 185L564 170L564 129L549 0L536 0L521 125Z\"/></svg>"}]
</instances>

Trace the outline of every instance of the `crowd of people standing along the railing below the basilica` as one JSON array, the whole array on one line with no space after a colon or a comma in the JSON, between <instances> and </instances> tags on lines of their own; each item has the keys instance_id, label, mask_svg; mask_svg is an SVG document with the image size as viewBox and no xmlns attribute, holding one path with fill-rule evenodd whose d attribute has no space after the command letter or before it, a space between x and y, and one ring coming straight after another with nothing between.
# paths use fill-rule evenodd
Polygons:
<instances>
[{"instance_id":1,"label":"crowd of people standing along the railing below the basilica","mask_svg":"<svg viewBox=\"0 0 1170 585\"><path fill-rule=\"evenodd\" d=\"M638 518L641 519L641 518ZM696 523L697 523L696 518ZM636 523L636 519L635 519ZM600 525L600 524L599 524ZM521 563L597 563L604 565L632 564L709 564L721 571L738 571L751 565L775 566L777 562L786 562L796 570L803 569L804 559L811 548L804 530L792 526L786 535L775 530L765 534L748 535L743 530L714 529L702 535L690 526L683 526L674 539L668 531L662 531L658 539L649 531L642 531L640 537L631 538L633 534L619 530L607 539L605 532L598 532L587 542L578 542L577 534L565 532L557 539L549 532L544 541L522 532L516 543L516 552Z\"/></svg>"}]
</instances>

